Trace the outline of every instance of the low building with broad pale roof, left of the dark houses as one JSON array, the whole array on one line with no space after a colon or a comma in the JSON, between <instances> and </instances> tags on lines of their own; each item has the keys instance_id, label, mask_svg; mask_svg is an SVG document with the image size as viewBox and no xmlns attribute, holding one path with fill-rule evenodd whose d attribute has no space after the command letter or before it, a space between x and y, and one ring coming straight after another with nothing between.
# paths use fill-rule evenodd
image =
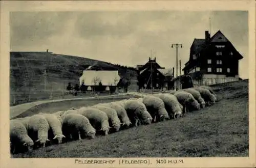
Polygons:
<instances>
[{"instance_id":1,"label":"low building with broad pale roof, left of the dark houses","mask_svg":"<svg viewBox=\"0 0 256 168\"><path fill-rule=\"evenodd\" d=\"M82 76L79 78L80 87L83 92L115 92L119 81L120 76L118 71L84 70Z\"/></svg>"}]
</instances>

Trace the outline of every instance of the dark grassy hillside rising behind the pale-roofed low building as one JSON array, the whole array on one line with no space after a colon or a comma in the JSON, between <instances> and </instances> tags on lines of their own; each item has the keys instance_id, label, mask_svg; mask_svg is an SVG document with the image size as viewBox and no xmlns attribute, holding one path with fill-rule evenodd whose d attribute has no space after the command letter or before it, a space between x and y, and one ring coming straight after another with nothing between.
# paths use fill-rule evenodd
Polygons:
<instances>
[{"instance_id":1,"label":"dark grassy hillside rising behind the pale-roofed low building","mask_svg":"<svg viewBox=\"0 0 256 168\"><path fill-rule=\"evenodd\" d=\"M51 92L52 98L60 98L68 82L72 86L78 84L83 70L89 66L92 66L92 70L118 70L122 78L131 76L132 84L129 89L135 88L136 71L123 66L50 52L10 52L10 104L49 99Z\"/></svg>"}]
</instances>

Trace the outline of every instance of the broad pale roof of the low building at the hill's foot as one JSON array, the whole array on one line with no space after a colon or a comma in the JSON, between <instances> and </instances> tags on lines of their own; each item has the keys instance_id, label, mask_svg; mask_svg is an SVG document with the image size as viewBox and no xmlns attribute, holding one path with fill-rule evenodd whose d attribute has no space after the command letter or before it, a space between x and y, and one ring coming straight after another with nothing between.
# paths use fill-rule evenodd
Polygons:
<instances>
[{"instance_id":1,"label":"broad pale roof of the low building at the hill's foot","mask_svg":"<svg viewBox=\"0 0 256 168\"><path fill-rule=\"evenodd\" d=\"M86 86L99 85L100 81L102 86L117 86L119 80L118 71L84 70L82 76L79 78L80 86L82 85L82 81Z\"/></svg>"}]
</instances>

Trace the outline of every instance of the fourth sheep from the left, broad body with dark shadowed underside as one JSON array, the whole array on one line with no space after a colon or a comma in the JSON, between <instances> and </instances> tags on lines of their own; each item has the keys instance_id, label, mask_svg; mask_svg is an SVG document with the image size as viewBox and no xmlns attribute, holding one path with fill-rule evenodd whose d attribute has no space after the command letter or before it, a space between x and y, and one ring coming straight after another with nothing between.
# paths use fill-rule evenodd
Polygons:
<instances>
[{"instance_id":1,"label":"fourth sheep from the left, broad body with dark shadowed underside","mask_svg":"<svg viewBox=\"0 0 256 168\"><path fill-rule=\"evenodd\" d=\"M61 116L63 120L62 131L68 138L75 138L78 135L78 139L88 136L90 139L95 138L96 129L93 128L89 119L78 113L69 113Z\"/></svg>"}]
</instances>

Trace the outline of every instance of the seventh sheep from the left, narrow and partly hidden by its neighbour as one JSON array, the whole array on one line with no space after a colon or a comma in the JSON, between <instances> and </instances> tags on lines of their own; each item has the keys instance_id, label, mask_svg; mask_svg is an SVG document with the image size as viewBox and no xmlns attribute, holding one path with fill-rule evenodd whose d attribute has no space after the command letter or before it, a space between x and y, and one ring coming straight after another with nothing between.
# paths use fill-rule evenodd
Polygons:
<instances>
[{"instance_id":1,"label":"seventh sheep from the left, narrow and partly hidden by its neighbour","mask_svg":"<svg viewBox=\"0 0 256 168\"><path fill-rule=\"evenodd\" d=\"M116 102L110 102L104 105L116 110L117 116L120 119L123 126L129 127L132 124L123 106Z\"/></svg>"}]
</instances>

